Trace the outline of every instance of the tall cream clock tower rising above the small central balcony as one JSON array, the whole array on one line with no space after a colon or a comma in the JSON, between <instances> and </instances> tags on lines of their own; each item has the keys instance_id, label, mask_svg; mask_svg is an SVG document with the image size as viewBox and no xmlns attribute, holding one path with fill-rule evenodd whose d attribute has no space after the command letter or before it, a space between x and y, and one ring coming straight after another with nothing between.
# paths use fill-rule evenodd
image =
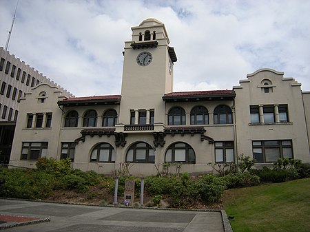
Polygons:
<instances>
[{"instance_id":1,"label":"tall cream clock tower rising above the small central balcony","mask_svg":"<svg viewBox=\"0 0 310 232\"><path fill-rule=\"evenodd\" d=\"M165 123L162 97L172 92L176 60L163 23L146 19L132 27L132 41L125 42L119 123Z\"/></svg>"}]
</instances>

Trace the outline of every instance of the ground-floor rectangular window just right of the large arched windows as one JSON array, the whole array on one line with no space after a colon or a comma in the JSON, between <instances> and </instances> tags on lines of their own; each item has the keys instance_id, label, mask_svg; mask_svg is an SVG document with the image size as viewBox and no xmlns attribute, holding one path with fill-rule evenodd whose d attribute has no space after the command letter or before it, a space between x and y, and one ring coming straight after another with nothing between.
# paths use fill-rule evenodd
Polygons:
<instances>
[{"instance_id":1,"label":"ground-floor rectangular window just right of the large arched windows","mask_svg":"<svg viewBox=\"0 0 310 232\"><path fill-rule=\"evenodd\" d=\"M216 162L234 162L234 142L224 141L215 143Z\"/></svg>"}]
</instances>

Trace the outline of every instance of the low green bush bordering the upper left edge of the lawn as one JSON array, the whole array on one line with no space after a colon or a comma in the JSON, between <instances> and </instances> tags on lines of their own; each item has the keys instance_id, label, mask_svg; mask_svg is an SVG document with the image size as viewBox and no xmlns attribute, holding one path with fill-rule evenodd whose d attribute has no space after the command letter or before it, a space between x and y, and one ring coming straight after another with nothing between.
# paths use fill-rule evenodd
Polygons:
<instances>
[{"instance_id":1,"label":"low green bush bordering the upper left edge of the lawn","mask_svg":"<svg viewBox=\"0 0 310 232\"><path fill-rule=\"evenodd\" d=\"M223 177L226 181L227 189L234 189L239 187L249 187L260 183L260 178L254 173L230 173Z\"/></svg>"}]
</instances>

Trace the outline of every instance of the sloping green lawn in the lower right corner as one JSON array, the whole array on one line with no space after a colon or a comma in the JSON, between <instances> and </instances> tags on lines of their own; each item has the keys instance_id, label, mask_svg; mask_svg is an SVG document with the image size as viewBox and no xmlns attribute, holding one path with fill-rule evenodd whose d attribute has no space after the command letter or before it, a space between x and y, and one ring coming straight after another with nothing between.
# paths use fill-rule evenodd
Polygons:
<instances>
[{"instance_id":1,"label":"sloping green lawn in the lower right corner","mask_svg":"<svg viewBox=\"0 0 310 232\"><path fill-rule=\"evenodd\" d=\"M310 230L310 178L231 189L224 199L234 232Z\"/></svg>"}]
</instances>

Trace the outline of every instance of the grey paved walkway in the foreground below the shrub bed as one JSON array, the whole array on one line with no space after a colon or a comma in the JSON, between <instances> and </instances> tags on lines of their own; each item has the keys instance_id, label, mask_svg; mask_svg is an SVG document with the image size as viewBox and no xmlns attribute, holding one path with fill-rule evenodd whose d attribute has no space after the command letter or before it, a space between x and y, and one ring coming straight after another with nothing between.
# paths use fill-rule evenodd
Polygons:
<instances>
[{"instance_id":1,"label":"grey paved walkway in the foreground below the shrub bed","mask_svg":"<svg viewBox=\"0 0 310 232\"><path fill-rule=\"evenodd\" d=\"M222 217L222 213L95 207L0 199L0 215L4 219L5 216L32 219L32 222L28 221L32 224L22 226L16 226L17 222L2 222L0 229L5 225L12 225L16 227L6 231L221 232L225 231L224 227L227 226L227 220ZM229 225L226 231L230 231Z\"/></svg>"}]
</instances>

